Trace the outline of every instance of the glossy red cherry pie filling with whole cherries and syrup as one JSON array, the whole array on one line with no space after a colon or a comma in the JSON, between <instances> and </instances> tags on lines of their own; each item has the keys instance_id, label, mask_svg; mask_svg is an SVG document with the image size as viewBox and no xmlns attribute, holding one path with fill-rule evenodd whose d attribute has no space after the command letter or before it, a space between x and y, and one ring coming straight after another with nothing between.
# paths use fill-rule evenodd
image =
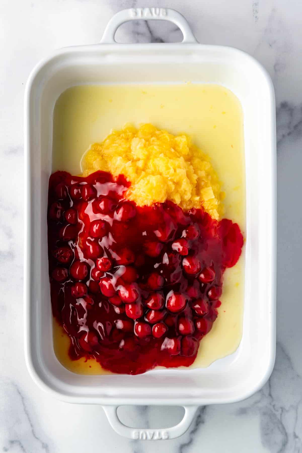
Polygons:
<instances>
[{"instance_id":1,"label":"glossy red cherry pie filling with whole cherries and syrup","mask_svg":"<svg viewBox=\"0 0 302 453\"><path fill-rule=\"evenodd\" d=\"M115 373L189 366L221 304L243 237L230 220L172 202L138 207L123 176L54 173L48 257L53 314L73 360Z\"/></svg>"}]
</instances>

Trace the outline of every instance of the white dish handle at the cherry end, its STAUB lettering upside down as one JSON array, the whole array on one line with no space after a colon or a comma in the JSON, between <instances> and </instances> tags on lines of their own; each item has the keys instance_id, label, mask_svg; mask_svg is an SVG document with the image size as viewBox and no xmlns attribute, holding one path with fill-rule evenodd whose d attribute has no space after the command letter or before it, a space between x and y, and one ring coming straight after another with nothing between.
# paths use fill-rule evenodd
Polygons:
<instances>
[{"instance_id":1,"label":"white dish handle at the cherry end, its STAUB lettering upside down","mask_svg":"<svg viewBox=\"0 0 302 453\"><path fill-rule=\"evenodd\" d=\"M171 428L164 429L149 429L149 428L130 428L123 424L117 414L117 408L119 406L103 406L105 414L107 415L108 421L112 428L121 436L127 437L128 439L137 440L167 440L176 439L182 436L190 427L198 406L183 406L185 414L182 420Z\"/></svg>"}]
</instances>

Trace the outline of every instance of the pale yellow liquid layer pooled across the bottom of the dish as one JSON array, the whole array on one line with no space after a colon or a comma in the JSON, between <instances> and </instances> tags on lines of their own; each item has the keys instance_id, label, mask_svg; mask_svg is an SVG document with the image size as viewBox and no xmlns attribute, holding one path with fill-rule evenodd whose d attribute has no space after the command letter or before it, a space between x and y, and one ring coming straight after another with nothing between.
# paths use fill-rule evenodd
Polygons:
<instances>
[{"instance_id":1,"label":"pale yellow liquid layer pooled across the bottom of the dish","mask_svg":"<svg viewBox=\"0 0 302 453\"><path fill-rule=\"evenodd\" d=\"M67 89L53 114L53 172L81 173L81 158L92 143L125 123L152 123L172 134L186 133L208 154L223 183L224 217L245 237L243 114L237 97L219 85L83 85ZM225 271L219 315L202 340L192 367L206 367L235 352L242 336L244 253ZM103 374L93 359L70 360L69 337L53 322L54 351L63 366L81 374Z\"/></svg>"}]
</instances>

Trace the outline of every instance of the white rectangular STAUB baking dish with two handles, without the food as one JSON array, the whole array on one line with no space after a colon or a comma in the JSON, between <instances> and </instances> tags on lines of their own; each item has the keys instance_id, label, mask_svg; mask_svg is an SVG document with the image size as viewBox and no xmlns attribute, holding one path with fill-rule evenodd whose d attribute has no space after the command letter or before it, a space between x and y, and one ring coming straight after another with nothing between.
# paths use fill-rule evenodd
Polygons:
<instances>
[{"instance_id":1,"label":"white rectangular STAUB baking dish with two handles, without the food","mask_svg":"<svg viewBox=\"0 0 302 453\"><path fill-rule=\"evenodd\" d=\"M177 44L117 44L115 31L131 19L177 24ZM52 168L53 107L67 88L87 83L174 83L228 87L244 112L246 265L243 337L238 350L206 369L153 370L139 376L80 376L53 352L48 281L47 193ZM25 356L43 389L72 403L101 404L110 424L137 439L173 438L189 427L198 405L242 400L264 385L275 357L275 104L264 68L234 48L201 45L173 10L124 10L108 24L101 44L61 49L31 73L25 92ZM180 424L165 430L122 425L118 405L184 405Z\"/></svg>"}]
</instances>

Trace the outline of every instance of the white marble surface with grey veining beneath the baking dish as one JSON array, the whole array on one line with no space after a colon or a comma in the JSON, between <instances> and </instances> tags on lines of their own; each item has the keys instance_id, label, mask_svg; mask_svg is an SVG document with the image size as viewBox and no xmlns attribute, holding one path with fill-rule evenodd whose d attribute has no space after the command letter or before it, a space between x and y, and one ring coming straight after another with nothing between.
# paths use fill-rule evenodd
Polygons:
<instances>
[{"instance_id":1,"label":"white marble surface with grey veining beneath the baking dish","mask_svg":"<svg viewBox=\"0 0 302 453\"><path fill-rule=\"evenodd\" d=\"M149 2L150 3L150 2ZM152 3L152 2L151 2ZM269 382L238 404L201 407L181 438L121 438L97 406L68 405L29 377L23 352L23 94L30 70L55 48L96 43L111 15L143 0L2 0L0 3L0 450L11 453L302 452L302 3L158 0L184 14L201 43L254 55L276 90L278 125L278 345ZM173 25L132 23L121 40L173 41ZM265 196L265 194L264 194ZM173 424L181 410L143 407L127 419ZM125 409L124 409L125 416Z\"/></svg>"}]
</instances>

